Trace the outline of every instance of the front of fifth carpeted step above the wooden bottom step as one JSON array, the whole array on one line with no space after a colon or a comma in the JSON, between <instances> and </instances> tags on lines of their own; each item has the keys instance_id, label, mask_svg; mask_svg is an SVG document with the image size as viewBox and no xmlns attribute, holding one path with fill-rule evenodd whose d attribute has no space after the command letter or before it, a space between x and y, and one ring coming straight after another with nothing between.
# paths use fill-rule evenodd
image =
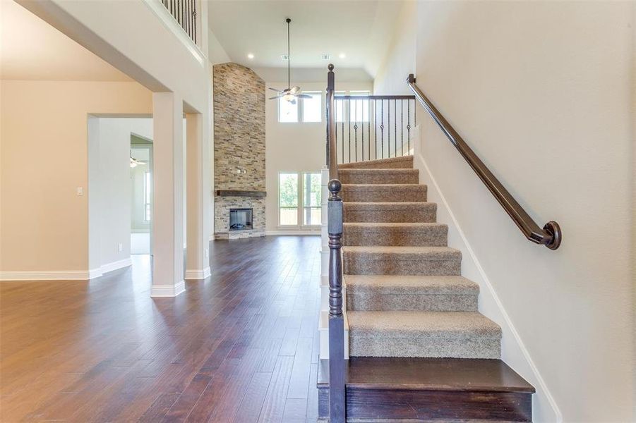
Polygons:
<instances>
[{"instance_id":1,"label":"front of fifth carpeted step above the wooden bottom step","mask_svg":"<svg viewBox=\"0 0 636 423\"><path fill-rule=\"evenodd\" d=\"M344 202L345 222L434 222L437 204L433 202Z\"/></svg>"}]
</instances>

